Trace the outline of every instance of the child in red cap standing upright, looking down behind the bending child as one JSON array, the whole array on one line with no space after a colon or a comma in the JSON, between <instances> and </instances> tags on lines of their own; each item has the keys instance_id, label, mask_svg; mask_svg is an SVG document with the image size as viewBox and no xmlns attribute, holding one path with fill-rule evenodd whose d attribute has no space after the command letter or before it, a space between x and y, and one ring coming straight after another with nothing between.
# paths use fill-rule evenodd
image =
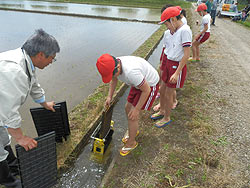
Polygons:
<instances>
[{"instance_id":1,"label":"child in red cap standing upright, looking down behind the bending child","mask_svg":"<svg viewBox=\"0 0 250 188\"><path fill-rule=\"evenodd\" d=\"M187 24L183 24L178 7L169 7L161 15L161 22L169 29L168 47L165 48L165 58L162 64L161 79L164 81L164 89L161 87L160 111L153 114L151 119L158 120L155 126L165 127L171 122L170 114L174 105L176 88L182 88L186 78L186 62L190 55L192 32ZM162 95L164 94L164 95Z\"/></svg>"}]
</instances>

